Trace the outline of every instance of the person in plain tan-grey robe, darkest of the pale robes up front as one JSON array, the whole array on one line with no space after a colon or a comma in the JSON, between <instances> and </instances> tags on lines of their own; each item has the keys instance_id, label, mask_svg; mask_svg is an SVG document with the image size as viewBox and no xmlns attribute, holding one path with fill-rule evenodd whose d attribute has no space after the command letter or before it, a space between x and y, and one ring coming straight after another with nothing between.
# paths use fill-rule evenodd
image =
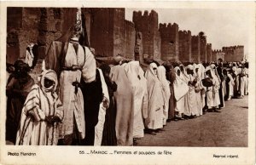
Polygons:
<instances>
[{"instance_id":1,"label":"person in plain tan-grey robe, darkest of the pale robes up front","mask_svg":"<svg viewBox=\"0 0 256 165\"><path fill-rule=\"evenodd\" d=\"M133 145L133 118L134 100L131 83L125 69L121 65L111 68L110 77L117 84L117 90L113 93L116 103L115 132L117 145Z\"/></svg>"}]
</instances>

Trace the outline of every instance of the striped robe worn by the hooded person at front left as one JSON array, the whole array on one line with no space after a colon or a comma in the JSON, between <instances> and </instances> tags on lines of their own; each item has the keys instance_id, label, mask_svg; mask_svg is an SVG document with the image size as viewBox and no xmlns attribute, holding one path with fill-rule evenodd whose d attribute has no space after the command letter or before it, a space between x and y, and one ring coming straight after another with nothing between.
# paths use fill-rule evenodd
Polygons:
<instances>
[{"instance_id":1,"label":"striped robe worn by the hooded person at front left","mask_svg":"<svg viewBox=\"0 0 256 165\"><path fill-rule=\"evenodd\" d=\"M49 124L44 120L53 115L63 118L58 96L45 93L38 84L33 85L22 108L16 145L57 145L59 123Z\"/></svg>"}]
</instances>

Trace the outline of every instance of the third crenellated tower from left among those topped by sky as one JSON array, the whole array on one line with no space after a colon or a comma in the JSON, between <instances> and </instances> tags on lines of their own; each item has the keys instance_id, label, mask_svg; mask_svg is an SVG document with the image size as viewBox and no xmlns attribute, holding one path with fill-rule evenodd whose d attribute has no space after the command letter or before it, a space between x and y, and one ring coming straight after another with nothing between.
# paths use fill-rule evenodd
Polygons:
<instances>
[{"instance_id":1,"label":"third crenellated tower from left among those topped by sky","mask_svg":"<svg viewBox=\"0 0 256 165\"><path fill-rule=\"evenodd\" d=\"M179 60L191 61L191 31L178 31Z\"/></svg>"}]
</instances>

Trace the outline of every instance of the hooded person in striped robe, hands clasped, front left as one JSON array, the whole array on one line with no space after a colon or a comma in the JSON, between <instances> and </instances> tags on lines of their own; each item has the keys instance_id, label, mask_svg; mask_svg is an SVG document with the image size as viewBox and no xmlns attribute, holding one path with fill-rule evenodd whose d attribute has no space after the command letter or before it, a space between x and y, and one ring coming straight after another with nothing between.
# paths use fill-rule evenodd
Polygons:
<instances>
[{"instance_id":1,"label":"hooded person in striped robe, hands clasped, front left","mask_svg":"<svg viewBox=\"0 0 256 165\"><path fill-rule=\"evenodd\" d=\"M16 145L57 145L64 115L57 86L55 71L42 71L22 108Z\"/></svg>"}]
</instances>

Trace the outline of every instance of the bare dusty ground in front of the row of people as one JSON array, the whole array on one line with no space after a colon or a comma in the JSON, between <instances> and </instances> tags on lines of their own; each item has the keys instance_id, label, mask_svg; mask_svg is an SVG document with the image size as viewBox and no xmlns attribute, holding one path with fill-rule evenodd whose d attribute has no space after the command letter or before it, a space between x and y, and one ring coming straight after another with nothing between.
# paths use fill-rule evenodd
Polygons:
<instances>
[{"instance_id":1,"label":"bare dusty ground in front of the row of people","mask_svg":"<svg viewBox=\"0 0 256 165\"><path fill-rule=\"evenodd\" d=\"M225 102L221 113L208 112L195 119L167 122L166 131L145 134L138 146L247 146L248 96Z\"/></svg>"}]
</instances>

